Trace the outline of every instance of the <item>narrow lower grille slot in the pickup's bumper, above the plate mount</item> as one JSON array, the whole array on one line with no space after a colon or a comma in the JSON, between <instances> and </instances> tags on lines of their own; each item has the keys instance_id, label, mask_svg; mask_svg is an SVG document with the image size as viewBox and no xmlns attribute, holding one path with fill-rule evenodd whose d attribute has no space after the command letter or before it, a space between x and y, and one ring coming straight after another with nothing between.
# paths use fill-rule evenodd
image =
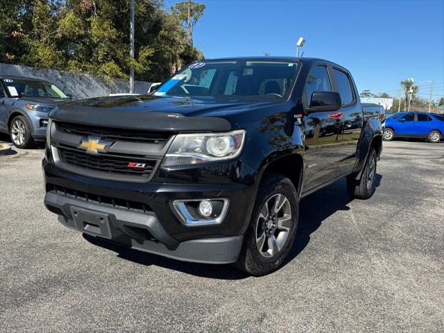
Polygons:
<instances>
[{"instance_id":1,"label":"narrow lower grille slot in the pickup's bumper, above the plate mount","mask_svg":"<svg viewBox=\"0 0 444 333\"><path fill-rule=\"evenodd\" d=\"M88 203L94 203L96 205L107 205L110 207L119 208L121 210L135 210L137 212L143 212L143 213L151 212L151 207L149 207L144 203L112 198L110 196L99 196L97 194L91 194L53 184L46 184L46 191L47 192L54 191L58 194L63 194L65 196L69 196L70 198L85 200Z\"/></svg>"}]
</instances>

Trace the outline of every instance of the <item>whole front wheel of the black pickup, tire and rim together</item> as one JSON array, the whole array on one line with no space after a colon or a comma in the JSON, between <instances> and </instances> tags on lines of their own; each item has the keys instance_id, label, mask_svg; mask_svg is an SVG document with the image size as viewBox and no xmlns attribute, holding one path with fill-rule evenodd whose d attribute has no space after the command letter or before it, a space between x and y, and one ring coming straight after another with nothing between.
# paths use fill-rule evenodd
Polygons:
<instances>
[{"instance_id":1,"label":"whole front wheel of the black pickup, tire and rim together","mask_svg":"<svg viewBox=\"0 0 444 333\"><path fill-rule=\"evenodd\" d=\"M275 173L266 175L235 266L255 276L278 269L293 245L298 216L298 198L291 180Z\"/></svg>"}]
</instances>

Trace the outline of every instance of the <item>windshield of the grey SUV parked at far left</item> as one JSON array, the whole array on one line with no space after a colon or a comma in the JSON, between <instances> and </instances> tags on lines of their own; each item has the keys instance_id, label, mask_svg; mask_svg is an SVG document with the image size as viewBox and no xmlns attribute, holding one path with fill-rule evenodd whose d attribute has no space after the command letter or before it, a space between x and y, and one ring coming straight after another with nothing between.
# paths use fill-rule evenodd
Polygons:
<instances>
[{"instance_id":1,"label":"windshield of the grey SUV parked at far left","mask_svg":"<svg viewBox=\"0 0 444 333\"><path fill-rule=\"evenodd\" d=\"M11 97L46 97L68 99L56 85L44 81L3 79Z\"/></svg>"}]
</instances>

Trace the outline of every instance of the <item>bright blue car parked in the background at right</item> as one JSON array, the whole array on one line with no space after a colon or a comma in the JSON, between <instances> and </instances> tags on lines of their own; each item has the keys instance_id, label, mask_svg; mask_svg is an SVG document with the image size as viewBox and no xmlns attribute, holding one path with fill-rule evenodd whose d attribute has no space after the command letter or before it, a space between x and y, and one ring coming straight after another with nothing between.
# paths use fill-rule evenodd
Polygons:
<instances>
[{"instance_id":1,"label":"bright blue car parked in the background at right","mask_svg":"<svg viewBox=\"0 0 444 333\"><path fill-rule=\"evenodd\" d=\"M386 119L384 140L395 137L418 137L436 143L444 139L444 114L398 112Z\"/></svg>"}]
</instances>

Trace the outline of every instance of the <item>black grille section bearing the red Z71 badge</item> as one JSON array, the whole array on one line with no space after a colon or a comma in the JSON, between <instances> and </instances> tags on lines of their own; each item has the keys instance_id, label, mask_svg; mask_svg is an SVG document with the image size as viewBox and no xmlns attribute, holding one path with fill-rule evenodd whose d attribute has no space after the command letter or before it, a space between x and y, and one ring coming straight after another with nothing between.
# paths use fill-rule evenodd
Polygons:
<instances>
[{"instance_id":1,"label":"black grille section bearing the red Z71 badge","mask_svg":"<svg viewBox=\"0 0 444 333\"><path fill-rule=\"evenodd\" d=\"M121 157L110 154L88 155L83 151L72 148L58 147L60 160L66 164L72 164L76 167L92 169L105 173L119 173L121 175L140 175L149 177L156 167L157 160L137 157ZM128 163L145 164L143 168L138 169L128 167Z\"/></svg>"}]
</instances>

